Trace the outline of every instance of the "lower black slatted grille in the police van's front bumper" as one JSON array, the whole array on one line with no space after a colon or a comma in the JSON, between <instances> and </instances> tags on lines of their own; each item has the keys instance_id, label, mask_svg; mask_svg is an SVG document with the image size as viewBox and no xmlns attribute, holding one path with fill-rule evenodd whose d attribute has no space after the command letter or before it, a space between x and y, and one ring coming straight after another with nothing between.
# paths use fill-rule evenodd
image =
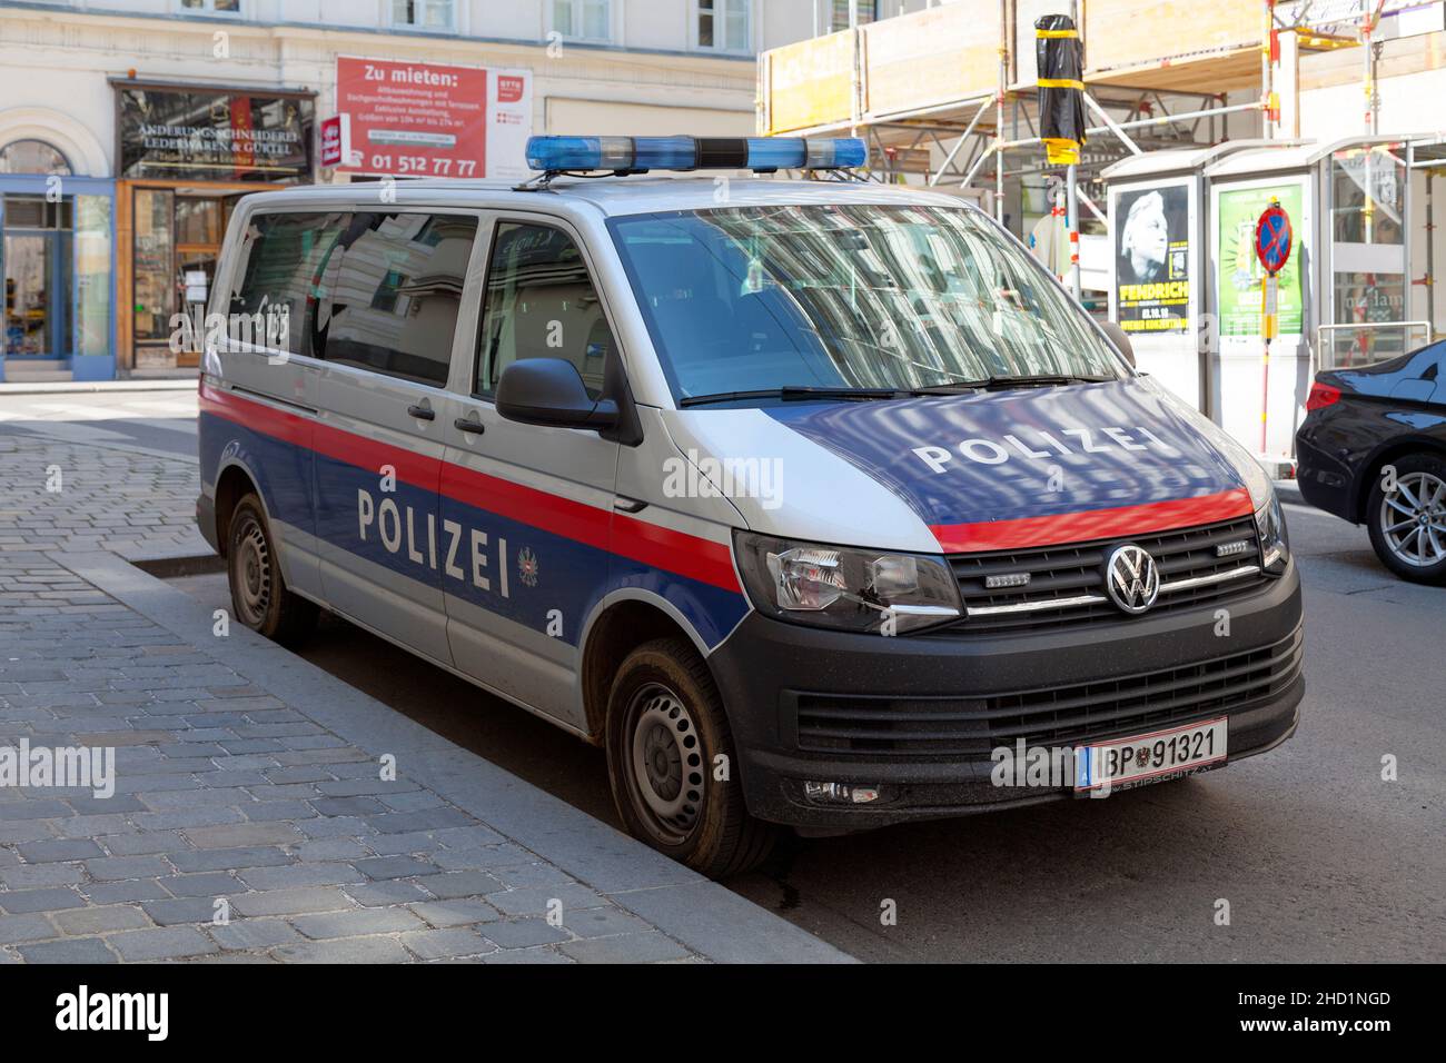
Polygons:
<instances>
[{"instance_id":1,"label":"lower black slatted grille in the police van's front bumper","mask_svg":"<svg viewBox=\"0 0 1446 1063\"><path fill-rule=\"evenodd\" d=\"M985 697L792 694L798 748L986 761L992 749L1077 746L1236 712L1300 675L1301 629L1244 654L1069 687Z\"/></svg>"}]
</instances>

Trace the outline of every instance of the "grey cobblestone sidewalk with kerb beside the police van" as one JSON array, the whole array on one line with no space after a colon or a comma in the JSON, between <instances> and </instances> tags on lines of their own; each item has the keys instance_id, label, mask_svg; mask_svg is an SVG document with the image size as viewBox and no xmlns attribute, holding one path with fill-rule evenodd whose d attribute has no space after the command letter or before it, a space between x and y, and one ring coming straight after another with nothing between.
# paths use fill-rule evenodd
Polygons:
<instances>
[{"instance_id":1,"label":"grey cobblestone sidewalk with kerb beside the police van","mask_svg":"<svg viewBox=\"0 0 1446 1063\"><path fill-rule=\"evenodd\" d=\"M215 635L123 560L204 552L195 489L194 464L0 430L0 782L22 742L114 751L110 797L0 784L0 962L849 959L239 625Z\"/></svg>"}]
</instances>

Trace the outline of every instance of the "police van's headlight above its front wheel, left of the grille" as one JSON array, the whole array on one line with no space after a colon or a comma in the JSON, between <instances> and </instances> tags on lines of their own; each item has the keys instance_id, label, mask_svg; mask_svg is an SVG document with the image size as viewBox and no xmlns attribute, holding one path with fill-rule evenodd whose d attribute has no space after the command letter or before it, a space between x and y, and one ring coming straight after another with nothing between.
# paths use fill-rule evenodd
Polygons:
<instances>
[{"instance_id":1,"label":"police van's headlight above its front wheel, left of the grille","mask_svg":"<svg viewBox=\"0 0 1446 1063\"><path fill-rule=\"evenodd\" d=\"M897 635L960 616L959 586L940 557L847 550L735 532L753 607L816 628Z\"/></svg>"}]
</instances>

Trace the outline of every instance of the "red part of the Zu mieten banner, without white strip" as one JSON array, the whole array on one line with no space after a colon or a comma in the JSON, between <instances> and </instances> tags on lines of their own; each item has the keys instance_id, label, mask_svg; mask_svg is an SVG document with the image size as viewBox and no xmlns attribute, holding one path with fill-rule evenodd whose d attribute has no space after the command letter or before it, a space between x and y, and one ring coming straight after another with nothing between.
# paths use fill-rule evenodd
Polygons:
<instances>
[{"instance_id":1,"label":"red part of the Zu mieten banner, without white strip","mask_svg":"<svg viewBox=\"0 0 1446 1063\"><path fill-rule=\"evenodd\" d=\"M351 135L351 158L338 169L486 176L487 78L477 67L338 56L337 113ZM523 87L510 85L506 95L521 101Z\"/></svg>"}]
</instances>

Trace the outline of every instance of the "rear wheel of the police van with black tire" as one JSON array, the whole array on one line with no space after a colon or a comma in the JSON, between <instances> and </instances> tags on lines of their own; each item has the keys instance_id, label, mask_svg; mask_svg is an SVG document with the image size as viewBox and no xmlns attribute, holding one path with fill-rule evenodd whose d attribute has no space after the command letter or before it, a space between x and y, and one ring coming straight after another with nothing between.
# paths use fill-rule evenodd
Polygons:
<instances>
[{"instance_id":1,"label":"rear wheel of the police van with black tire","mask_svg":"<svg viewBox=\"0 0 1446 1063\"><path fill-rule=\"evenodd\" d=\"M295 645L317 626L317 605L286 589L276 563L276 541L254 492L231 511L226 576L231 584L231 613L252 631Z\"/></svg>"}]
</instances>

